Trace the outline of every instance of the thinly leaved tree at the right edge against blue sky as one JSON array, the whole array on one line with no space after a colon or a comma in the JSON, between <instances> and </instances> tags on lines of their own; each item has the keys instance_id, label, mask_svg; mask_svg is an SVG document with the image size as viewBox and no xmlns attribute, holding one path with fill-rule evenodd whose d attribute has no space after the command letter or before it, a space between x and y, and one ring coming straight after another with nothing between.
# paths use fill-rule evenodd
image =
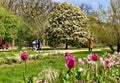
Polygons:
<instances>
[{"instance_id":1,"label":"thinly leaved tree at the right edge against blue sky","mask_svg":"<svg viewBox=\"0 0 120 83\"><path fill-rule=\"evenodd\" d=\"M103 22L101 31L104 35L101 41L106 42L114 51L113 46L117 46L117 51L120 52L120 1L110 0L110 6L106 9L100 6L98 19Z\"/></svg>"}]
</instances>

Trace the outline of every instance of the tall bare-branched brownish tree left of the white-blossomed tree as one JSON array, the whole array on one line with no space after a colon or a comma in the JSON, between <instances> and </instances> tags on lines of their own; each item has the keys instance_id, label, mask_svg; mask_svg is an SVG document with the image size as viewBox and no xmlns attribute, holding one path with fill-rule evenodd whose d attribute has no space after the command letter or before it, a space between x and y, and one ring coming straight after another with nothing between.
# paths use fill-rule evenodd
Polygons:
<instances>
[{"instance_id":1,"label":"tall bare-branched brownish tree left of the white-blossomed tree","mask_svg":"<svg viewBox=\"0 0 120 83\"><path fill-rule=\"evenodd\" d=\"M45 23L57 3L52 0L3 0L3 6L18 14L31 27L35 39L45 39Z\"/></svg>"}]
</instances>

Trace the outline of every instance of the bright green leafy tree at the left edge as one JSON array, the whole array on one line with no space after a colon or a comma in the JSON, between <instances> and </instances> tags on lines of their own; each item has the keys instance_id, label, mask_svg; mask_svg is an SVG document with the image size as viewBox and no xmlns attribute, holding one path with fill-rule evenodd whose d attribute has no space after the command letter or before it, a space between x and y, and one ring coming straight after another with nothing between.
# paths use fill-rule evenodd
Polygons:
<instances>
[{"instance_id":1,"label":"bright green leafy tree at the left edge","mask_svg":"<svg viewBox=\"0 0 120 83\"><path fill-rule=\"evenodd\" d=\"M17 38L20 18L5 8L0 7L0 37L2 39L14 40ZM12 44L13 46L13 44Z\"/></svg>"}]
</instances>

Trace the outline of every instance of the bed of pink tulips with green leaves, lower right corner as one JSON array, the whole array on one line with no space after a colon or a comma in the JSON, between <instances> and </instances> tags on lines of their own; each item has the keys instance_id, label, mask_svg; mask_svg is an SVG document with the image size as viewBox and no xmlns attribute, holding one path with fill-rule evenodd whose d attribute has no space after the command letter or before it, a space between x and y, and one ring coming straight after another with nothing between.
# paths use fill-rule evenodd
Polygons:
<instances>
[{"instance_id":1,"label":"bed of pink tulips with green leaves, lower right corner","mask_svg":"<svg viewBox=\"0 0 120 83\"><path fill-rule=\"evenodd\" d=\"M105 53L103 57L90 54L86 58L78 59L70 53L65 53L67 73L64 74L63 83L120 83L120 53L113 55Z\"/></svg>"}]
</instances>

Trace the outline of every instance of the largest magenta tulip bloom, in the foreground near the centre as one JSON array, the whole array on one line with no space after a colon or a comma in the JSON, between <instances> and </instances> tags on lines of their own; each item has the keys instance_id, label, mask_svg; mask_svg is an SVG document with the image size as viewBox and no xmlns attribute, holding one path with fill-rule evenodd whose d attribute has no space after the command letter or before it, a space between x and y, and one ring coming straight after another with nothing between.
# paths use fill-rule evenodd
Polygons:
<instances>
[{"instance_id":1,"label":"largest magenta tulip bloom, in the foreground near the centre","mask_svg":"<svg viewBox=\"0 0 120 83\"><path fill-rule=\"evenodd\" d=\"M73 68L76 64L76 60L75 60L75 57L74 56L71 56L71 55L67 55L66 56L66 66L68 68Z\"/></svg>"}]
</instances>

